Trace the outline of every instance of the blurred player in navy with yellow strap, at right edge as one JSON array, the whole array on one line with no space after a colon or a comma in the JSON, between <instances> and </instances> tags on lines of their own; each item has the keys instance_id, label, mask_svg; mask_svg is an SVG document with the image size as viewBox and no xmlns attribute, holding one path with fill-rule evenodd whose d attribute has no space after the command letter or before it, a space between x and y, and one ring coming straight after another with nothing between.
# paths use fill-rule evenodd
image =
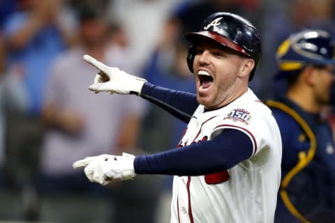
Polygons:
<instances>
[{"instance_id":1,"label":"blurred player in navy with yellow strap, at right edge","mask_svg":"<svg viewBox=\"0 0 335 223\"><path fill-rule=\"evenodd\" d=\"M283 141L275 222L334 222L334 137L324 112L335 105L334 39L322 30L293 33L276 56L276 82L286 87L267 102Z\"/></svg>"}]
</instances>

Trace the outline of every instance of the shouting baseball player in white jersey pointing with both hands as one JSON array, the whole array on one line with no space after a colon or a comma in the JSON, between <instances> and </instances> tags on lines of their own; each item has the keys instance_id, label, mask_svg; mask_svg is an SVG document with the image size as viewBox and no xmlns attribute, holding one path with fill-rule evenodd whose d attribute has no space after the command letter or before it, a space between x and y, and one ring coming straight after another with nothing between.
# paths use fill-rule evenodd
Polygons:
<instances>
[{"instance_id":1,"label":"shouting baseball player in white jersey pointing with both hands","mask_svg":"<svg viewBox=\"0 0 335 223\"><path fill-rule=\"evenodd\" d=\"M273 222L281 180L281 135L271 111L248 89L260 61L260 35L239 15L214 13L198 32L188 68L196 95L148 83L85 55L99 72L89 89L135 94L188 123L178 148L152 155L78 160L91 182L136 174L174 175L171 222Z\"/></svg>"}]
</instances>

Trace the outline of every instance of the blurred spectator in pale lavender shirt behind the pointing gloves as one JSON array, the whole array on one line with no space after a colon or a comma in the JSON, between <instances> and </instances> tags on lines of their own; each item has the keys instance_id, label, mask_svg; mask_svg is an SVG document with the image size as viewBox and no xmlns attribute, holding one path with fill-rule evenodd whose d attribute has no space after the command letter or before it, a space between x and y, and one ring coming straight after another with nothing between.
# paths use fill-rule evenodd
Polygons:
<instances>
[{"instance_id":1,"label":"blurred spectator in pale lavender shirt behind the pointing gloves","mask_svg":"<svg viewBox=\"0 0 335 223\"><path fill-rule=\"evenodd\" d=\"M82 5L78 12L80 44L57 56L45 88L42 116L47 131L40 155L40 192L42 208L49 211L43 210L46 216L40 216L40 220L108 222L121 212L113 210L114 202L119 208L117 196L89 184L80 171L69 167L73 160L97 152L137 153L137 133L144 105L132 98L128 102L121 97L110 100L107 95L96 100L87 92L94 68L82 61L83 54L94 54L101 61L124 70L133 67L128 55L115 47L118 42L113 42L114 48L110 47L114 39L110 39L104 14L95 10L94 5ZM117 56L111 56L115 53ZM120 188L115 189L116 194L121 193L119 186L114 185ZM123 199L131 203L126 197Z\"/></svg>"}]
</instances>

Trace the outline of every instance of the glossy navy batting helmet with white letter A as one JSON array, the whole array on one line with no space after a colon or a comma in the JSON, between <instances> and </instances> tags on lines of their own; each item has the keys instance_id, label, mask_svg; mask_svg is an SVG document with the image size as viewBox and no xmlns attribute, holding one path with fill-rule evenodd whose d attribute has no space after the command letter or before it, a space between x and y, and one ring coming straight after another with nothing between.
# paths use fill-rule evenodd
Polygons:
<instances>
[{"instance_id":1,"label":"glossy navy batting helmet with white letter A","mask_svg":"<svg viewBox=\"0 0 335 223\"><path fill-rule=\"evenodd\" d=\"M189 47L187 56L187 64L191 72L193 72L195 45L202 38L210 38L225 47L239 52L241 55L253 59L255 68L251 71L249 81L253 79L262 56L262 46L260 33L248 20L232 13L214 13L204 20L200 31L186 33L185 38L193 44Z\"/></svg>"}]
</instances>

